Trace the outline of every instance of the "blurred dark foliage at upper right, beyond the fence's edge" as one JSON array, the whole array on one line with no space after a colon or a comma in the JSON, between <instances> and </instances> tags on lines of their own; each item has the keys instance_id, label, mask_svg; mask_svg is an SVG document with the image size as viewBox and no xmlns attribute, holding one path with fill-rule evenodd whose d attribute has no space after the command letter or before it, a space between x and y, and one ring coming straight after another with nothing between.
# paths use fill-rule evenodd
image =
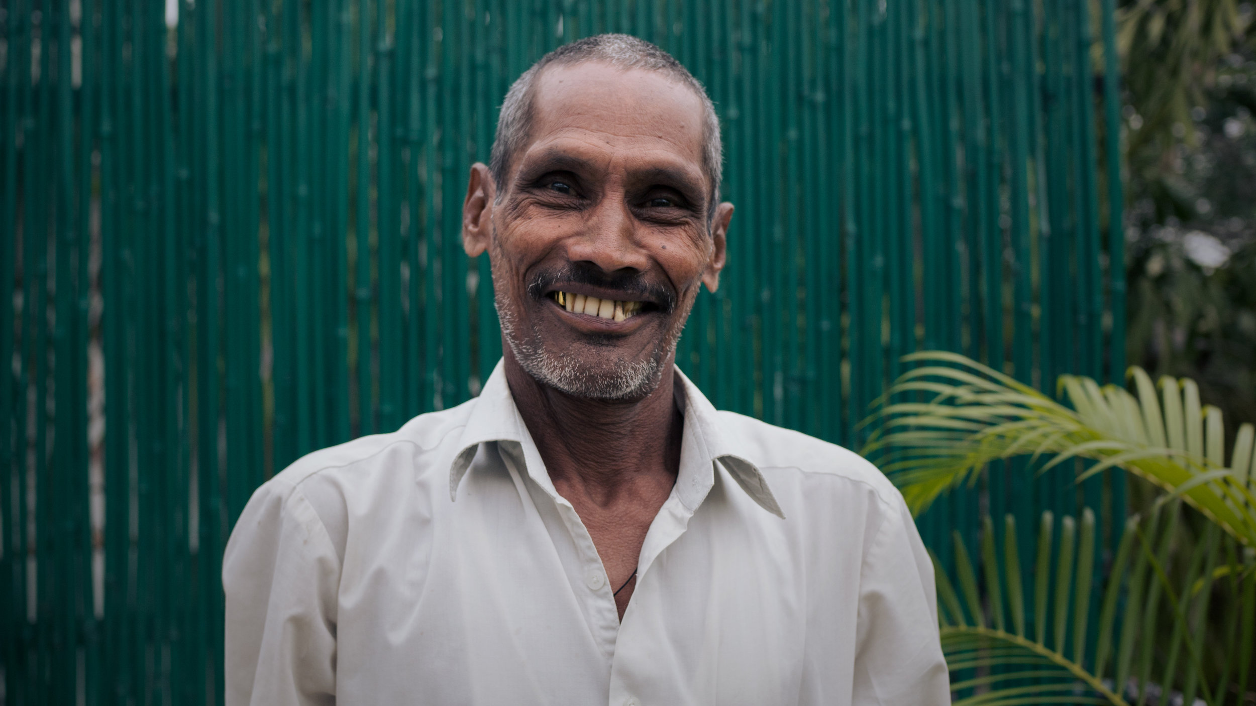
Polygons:
<instances>
[{"instance_id":1,"label":"blurred dark foliage at upper right, beyond the fence's edge","mask_svg":"<svg viewBox=\"0 0 1256 706\"><path fill-rule=\"evenodd\" d=\"M1253 420L1253 6L1130 0L1118 21L1129 363L1191 377L1227 420Z\"/></svg>"}]
</instances>

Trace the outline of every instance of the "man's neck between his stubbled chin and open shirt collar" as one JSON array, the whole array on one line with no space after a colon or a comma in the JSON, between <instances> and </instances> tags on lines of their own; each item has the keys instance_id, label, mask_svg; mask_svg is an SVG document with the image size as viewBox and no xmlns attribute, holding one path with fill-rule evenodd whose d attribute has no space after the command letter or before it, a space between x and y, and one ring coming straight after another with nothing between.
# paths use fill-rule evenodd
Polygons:
<instances>
[{"instance_id":1,"label":"man's neck between his stubbled chin and open shirt collar","mask_svg":"<svg viewBox=\"0 0 1256 706\"><path fill-rule=\"evenodd\" d=\"M672 359L658 387L641 399L575 397L538 382L504 347L510 393L554 486L599 506L632 489L676 481L685 417L672 397ZM568 497L574 500L573 497Z\"/></svg>"}]
</instances>

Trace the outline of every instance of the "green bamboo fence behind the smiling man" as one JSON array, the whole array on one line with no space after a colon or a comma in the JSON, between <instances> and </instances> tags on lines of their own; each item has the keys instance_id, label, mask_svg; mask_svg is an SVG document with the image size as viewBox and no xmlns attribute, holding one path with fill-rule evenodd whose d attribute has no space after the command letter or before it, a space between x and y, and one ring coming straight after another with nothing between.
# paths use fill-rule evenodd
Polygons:
<instances>
[{"instance_id":1,"label":"green bamboo fence behind the smiling man","mask_svg":"<svg viewBox=\"0 0 1256 706\"><path fill-rule=\"evenodd\" d=\"M221 702L254 487L497 361L467 167L579 36L659 44L720 112L730 268L678 353L720 407L858 446L911 350L1119 376L1112 1L0 4L0 701ZM921 519L943 560L978 504L1120 526L1119 482L978 490Z\"/></svg>"}]
</instances>

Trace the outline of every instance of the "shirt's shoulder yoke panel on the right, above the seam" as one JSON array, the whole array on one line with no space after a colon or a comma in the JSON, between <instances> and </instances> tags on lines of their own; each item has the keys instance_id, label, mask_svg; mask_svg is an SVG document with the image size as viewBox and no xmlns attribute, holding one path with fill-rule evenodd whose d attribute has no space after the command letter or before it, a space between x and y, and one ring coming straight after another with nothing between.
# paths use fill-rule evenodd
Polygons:
<instances>
[{"instance_id":1,"label":"shirt's shoulder yoke panel on the right, above the seam","mask_svg":"<svg viewBox=\"0 0 1256 706\"><path fill-rule=\"evenodd\" d=\"M809 477L843 479L869 487L885 505L901 506L903 496L877 466L863 456L828 441L739 415L717 412L727 433L736 438L771 484L780 472Z\"/></svg>"}]
</instances>

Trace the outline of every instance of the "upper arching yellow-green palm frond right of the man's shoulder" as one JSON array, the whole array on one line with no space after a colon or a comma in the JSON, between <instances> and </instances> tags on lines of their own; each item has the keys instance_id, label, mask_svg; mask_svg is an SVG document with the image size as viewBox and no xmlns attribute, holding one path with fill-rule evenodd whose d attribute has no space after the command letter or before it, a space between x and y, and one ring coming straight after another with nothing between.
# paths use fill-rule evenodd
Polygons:
<instances>
[{"instance_id":1,"label":"upper arching yellow-green palm frond right of the man's shoulder","mask_svg":"<svg viewBox=\"0 0 1256 706\"><path fill-rule=\"evenodd\" d=\"M1123 469L1181 496L1256 549L1256 431L1242 425L1227 460L1221 412L1201 405L1194 382L1164 377L1157 391L1134 367L1132 393L1061 376L1066 406L955 353L904 361L923 364L904 373L865 420L878 426L864 453L882 464L913 513L975 482L991 461L1030 456L1046 470L1085 459L1096 464L1081 477Z\"/></svg>"}]
</instances>

